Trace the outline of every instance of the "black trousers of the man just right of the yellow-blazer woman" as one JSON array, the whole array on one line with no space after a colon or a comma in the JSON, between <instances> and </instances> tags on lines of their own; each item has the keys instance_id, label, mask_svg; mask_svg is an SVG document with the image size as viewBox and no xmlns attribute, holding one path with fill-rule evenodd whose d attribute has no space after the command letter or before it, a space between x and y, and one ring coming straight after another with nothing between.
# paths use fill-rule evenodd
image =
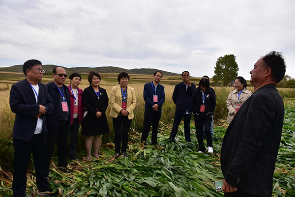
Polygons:
<instances>
[{"instance_id":1,"label":"black trousers of the man just right of the yellow-blazer woman","mask_svg":"<svg viewBox=\"0 0 295 197\"><path fill-rule=\"evenodd\" d=\"M157 144L158 126L162 112L145 111L144 129L141 142L147 141L152 123L151 144Z\"/></svg>"}]
</instances>

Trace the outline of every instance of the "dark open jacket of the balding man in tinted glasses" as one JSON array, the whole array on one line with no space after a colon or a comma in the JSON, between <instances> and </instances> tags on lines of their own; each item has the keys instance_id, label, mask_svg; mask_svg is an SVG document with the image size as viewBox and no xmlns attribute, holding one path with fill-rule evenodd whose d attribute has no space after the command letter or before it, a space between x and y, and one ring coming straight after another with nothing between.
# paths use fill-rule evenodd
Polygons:
<instances>
[{"instance_id":1,"label":"dark open jacket of the balding man in tinted glasses","mask_svg":"<svg viewBox=\"0 0 295 197\"><path fill-rule=\"evenodd\" d=\"M47 129L48 131L58 132L59 131L59 106L60 106L60 100L59 100L59 89L54 82L50 82L46 84L48 87L48 93L50 94L53 102L54 102L54 108L52 110L52 113L50 113L47 116ZM69 116L68 116L68 125L71 125L71 101L70 101L70 93L69 88L62 84L65 95L66 95L66 102L68 104L68 110L69 110Z\"/></svg>"}]
</instances>

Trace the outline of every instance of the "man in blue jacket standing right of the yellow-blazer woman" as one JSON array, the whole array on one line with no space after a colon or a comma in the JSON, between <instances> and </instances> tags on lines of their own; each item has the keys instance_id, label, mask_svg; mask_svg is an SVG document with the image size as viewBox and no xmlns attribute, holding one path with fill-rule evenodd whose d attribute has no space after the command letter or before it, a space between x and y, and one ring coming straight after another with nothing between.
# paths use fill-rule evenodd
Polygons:
<instances>
[{"instance_id":1,"label":"man in blue jacket standing right of the yellow-blazer woman","mask_svg":"<svg viewBox=\"0 0 295 197\"><path fill-rule=\"evenodd\" d=\"M160 71L153 74L153 81L145 84L144 100L145 120L141 137L141 145L146 145L148 133L152 123L151 144L157 144L158 126L162 114L162 105L165 101L164 86L159 84L163 75Z\"/></svg>"}]
</instances>

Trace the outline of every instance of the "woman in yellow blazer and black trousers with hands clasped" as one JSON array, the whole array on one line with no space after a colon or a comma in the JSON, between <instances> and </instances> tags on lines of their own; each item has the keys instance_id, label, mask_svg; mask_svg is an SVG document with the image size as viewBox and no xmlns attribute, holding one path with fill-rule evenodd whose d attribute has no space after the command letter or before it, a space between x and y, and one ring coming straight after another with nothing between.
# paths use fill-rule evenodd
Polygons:
<instances>
[{"instance_id":1,"label":"woman in yellow blazer and black trousers with hands clasped","mask_svg":"<svg viewBox=\"0 0 295 197\"><path fill-rule=\"evenodd\" d=\"M126 72L120 72L118 75L118 85L114 86L111 91L111 112L113 117L113 125L115 130L115 158L119 157L122 141L122 155L126 154L129 129L132 118L134 117L133 110L136 106L135 91L132 87L127 86L129 75Z\"/></svg>"}]
</instances>

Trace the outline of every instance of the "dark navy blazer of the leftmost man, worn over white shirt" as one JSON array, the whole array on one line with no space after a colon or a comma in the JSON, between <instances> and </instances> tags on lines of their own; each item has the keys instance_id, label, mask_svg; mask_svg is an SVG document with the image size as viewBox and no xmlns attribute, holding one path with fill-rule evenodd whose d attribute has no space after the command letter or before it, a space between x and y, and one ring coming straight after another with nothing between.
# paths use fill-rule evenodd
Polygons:
<instances>
[{"instance_id":1,"label":"dark navy blazer of the leftmost man, worn over white shirt","mask_svg":"<svg viewBox=\"0 0 295 197\"><path fill-rule=\"evenodd\" d=\"M34 92L27 79L11 86L9 103L11 111L15 113L13 138L30 141L36 129L38 118L34 115L39 113L39 105L46 107L46 114L51 113L54 108L54 102L48 94L47 86L41 82L38 86L38 103L36 103ZM47 133L46 114L41 115L43 135Z\"/></svg>"}]
</instances>

